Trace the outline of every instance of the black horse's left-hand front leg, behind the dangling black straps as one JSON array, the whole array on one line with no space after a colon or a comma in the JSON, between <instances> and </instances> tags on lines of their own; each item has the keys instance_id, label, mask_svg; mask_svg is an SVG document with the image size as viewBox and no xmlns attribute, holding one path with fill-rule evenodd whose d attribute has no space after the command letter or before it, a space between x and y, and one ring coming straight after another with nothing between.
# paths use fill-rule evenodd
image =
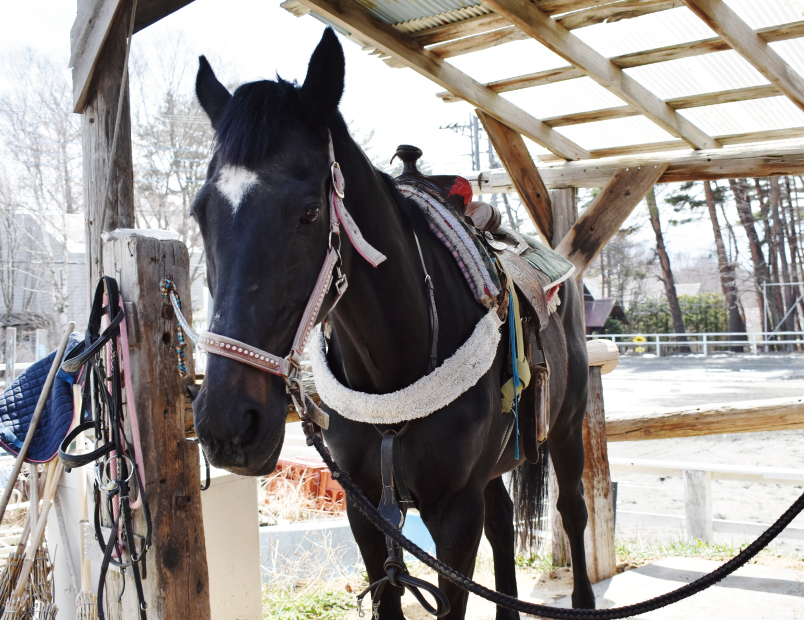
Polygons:
<instances>
[{"instance_id":1,"label":"black horse's left-hand front leg, behind the dangling black straps","mask_svg":"<svg viewBox=\"0 0 804 620\"><path fill-rule=\"evenodd\" d=\"M371 521L366 519L356 506L352 505L348 496L346 498L346 516L349 517L352 534L357 541L357 546L360 547L363 562L366 564L369 583L374 583L385 577L383 564L388 557L385 536ZM371 593L366 594L363 599L363 609L368 616L371 615ZM402 589L386 583L378 611L381 620L405 620L402 613Z\"/></svg>"}]
</instances>

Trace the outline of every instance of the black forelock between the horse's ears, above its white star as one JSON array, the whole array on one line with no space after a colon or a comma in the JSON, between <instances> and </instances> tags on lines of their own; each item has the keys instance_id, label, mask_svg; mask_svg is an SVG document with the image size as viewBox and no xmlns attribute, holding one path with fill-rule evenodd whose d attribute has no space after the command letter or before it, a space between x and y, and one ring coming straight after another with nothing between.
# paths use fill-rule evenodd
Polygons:
<instances>
[{"instance_id":1,"label":"black forelock between the horse's ears, above its white star","mask_svg":"<svg viewBox=\"0 0 804 620\"><path fill-rule=\"evenodd\" d=\"M277 76L243 84L221 111L215 127L219 156L227 164L257 168L282 127L301 118L298 86Z\"/></svg>"}]
</instances>

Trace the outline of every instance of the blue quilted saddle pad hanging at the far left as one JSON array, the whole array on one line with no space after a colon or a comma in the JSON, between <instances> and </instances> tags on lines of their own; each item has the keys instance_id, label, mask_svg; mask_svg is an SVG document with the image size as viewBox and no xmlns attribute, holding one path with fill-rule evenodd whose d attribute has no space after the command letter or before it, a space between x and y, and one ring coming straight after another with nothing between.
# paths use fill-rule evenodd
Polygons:
<instances>
[{"instance_id":1,"label":"blue quilted saddle pad hanging at the far left","mask_svg":"<svg viewBox=\"0 0 804 620\"><path fill-rule=\"evenodd\" d=\"M83 345L84 336L78 332L70 335L65 357L76 346ZM6 388L0 396L0 447L13 455L19 454L28 427L31 424L36 403L45 386L56 351L29 366ZM70 432L73 423L72 385L77 377L59 369L47 404L34 432L33 441L25 460L29 463L46 463L59 450L59 444Z\"/></svg>"}]
</instances>

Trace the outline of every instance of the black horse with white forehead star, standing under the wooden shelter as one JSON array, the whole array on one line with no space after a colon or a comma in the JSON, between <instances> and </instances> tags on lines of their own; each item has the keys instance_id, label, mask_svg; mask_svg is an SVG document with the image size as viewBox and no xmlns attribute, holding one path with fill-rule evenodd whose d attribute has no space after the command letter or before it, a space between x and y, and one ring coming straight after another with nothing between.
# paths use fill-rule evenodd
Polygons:
<instances>
[{"instance_id":1,"label":"black horse with white forehead star, standing under the wooden shelter","mask_svg":"<svg viewBox=\"0 0 804 620\"><path fill-rule=\"evenodd\" d=\"M345 204L365 238L387 260L373 268L344 239L343 271L349 288L331 313L330 293L319 319L329 313L333 329L327 357L336 378L354 390L385 394L414 383L428 366L429 299L414 231L435 284L439 363L455 353L487 311L475 301L419 207L397 192L350 137L338 112L343 88L343 50L330 29L313 53L301 86L277 79L245 84L230 94L201 57L196 91L217 142L192 210L203 235L208 284L214 293L210 331L284 355L328 247L331 134L346 180ZM581 486L588 376L582 306L575 286L562 286L559 294L559 310L543 332L551 369L547 443L560 489L558 509L572 550L573 605L592 608ZM505 335L501 342L506 342ZM526 527L535 526L546 459L537 465L515 459L513 439L498 459L507 420L500 396L505 359L506 346L501 344L491 369L473 388L444 409L414 420L400 442L407 484L438 557L471 575L485 529L494 553L496 588L516 596L514 513L530 517ZM522 395L523 410L532 408L532 391L528 388ZM242 475L273 471L287 407L282 378L210 356L194 403L195 427L210 462ZM324 438L335 460L378 503L380 435L371 424L329 413ZM516 506L502 479L512 470ZM347 513L369 579L379 579L387 556L384 537L348 502ZM467 594L444 579L440 587L451 603L448 617L463 618ZM382 618L403 617L400 592L385 589ZM497 617L518 614L498 608Z\"/></svg>"}]
</instances>

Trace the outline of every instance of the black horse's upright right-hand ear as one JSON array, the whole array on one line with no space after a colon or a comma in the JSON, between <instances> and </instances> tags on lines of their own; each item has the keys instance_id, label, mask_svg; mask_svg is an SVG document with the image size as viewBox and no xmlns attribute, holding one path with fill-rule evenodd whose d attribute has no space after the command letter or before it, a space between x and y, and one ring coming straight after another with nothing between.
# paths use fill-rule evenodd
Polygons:
<instances>
[{"instance_id":1,"label":"black horse's upright right-hand ear","mask_svg":"<svg viewBox=\"0 0 804 620\"><path fill-rule=\"evenodd\" d=\"M341 43L332 28L327 28L310 57L301 87L302 106L308 118L323 120L338 108L345 67Z\"/></svg>"}]
</instances>

